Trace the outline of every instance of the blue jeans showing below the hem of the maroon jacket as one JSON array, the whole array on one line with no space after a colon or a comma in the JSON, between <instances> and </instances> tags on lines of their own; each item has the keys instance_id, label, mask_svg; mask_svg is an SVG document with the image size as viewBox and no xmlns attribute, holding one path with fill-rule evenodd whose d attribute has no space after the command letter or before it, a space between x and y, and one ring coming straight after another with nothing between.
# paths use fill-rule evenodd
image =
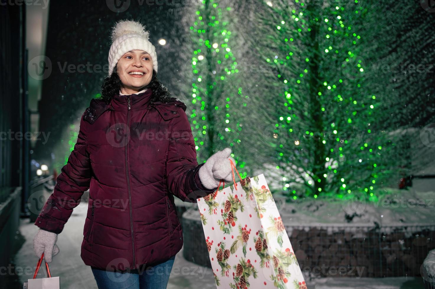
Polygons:
<instances>
[{"instance_id":1,"label":"blue jeans showing below the hem of the maroon jacket","mask_svg":"<svg viewBox=\"0 0 435 289\"><path fill-rule=\"evenodd\" d=\"M91 267L98 289L166 289L175 256L146 269L109 272Z\"/></svg>"}]
</instances>

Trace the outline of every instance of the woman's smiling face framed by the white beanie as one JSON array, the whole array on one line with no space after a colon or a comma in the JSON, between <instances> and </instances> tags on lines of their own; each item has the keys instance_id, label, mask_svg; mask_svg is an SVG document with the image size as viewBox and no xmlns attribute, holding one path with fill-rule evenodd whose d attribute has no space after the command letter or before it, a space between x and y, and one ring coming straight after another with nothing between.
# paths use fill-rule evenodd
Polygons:
<instances>
[{"instance_id":1,"label":"woman's smiling face framed by the white beanie","mask_svg":"<svg viewBox=\"0 0 435 289\"><path fill-rule=\"evenodd\" d=\"M151 82L153 61L144 50L131 50L117 63L117 73L122 82L121 93L133 94Z\"/></svg>"}]
</instances>

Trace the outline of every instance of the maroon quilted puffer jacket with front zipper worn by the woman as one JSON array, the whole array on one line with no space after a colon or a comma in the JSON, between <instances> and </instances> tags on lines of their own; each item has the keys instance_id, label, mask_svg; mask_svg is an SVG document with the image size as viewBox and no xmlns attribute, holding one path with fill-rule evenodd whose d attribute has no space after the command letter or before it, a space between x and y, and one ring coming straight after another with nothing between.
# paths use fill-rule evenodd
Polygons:
<instances>
[{"instance_id":1,"label":"maroon quilted puffer jacket with front zipper worn by the woman","mask_svg":"<svg viewBox=\"0 0 435 289\"><path fill-rule=\"evenodd\" d=\"M109 271L163 262L183 245L174 196L209 195L198 176L186 106L151 102L151 89L91 100L67 164L35 225L60 233L89 190L81 258ZM142 266L140 268L143 268Z\"/></svg>"}]
</instances>

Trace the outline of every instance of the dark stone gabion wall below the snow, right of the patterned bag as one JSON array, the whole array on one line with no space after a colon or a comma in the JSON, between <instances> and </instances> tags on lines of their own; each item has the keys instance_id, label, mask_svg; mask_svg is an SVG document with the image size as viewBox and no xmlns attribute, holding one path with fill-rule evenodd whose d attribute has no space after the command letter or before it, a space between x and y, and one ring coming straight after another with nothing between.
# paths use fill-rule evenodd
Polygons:
<instances>
[{"instance_id":1,"label":"dark stone gabion wall below the snow, right of the patterned bag","mask_svg":"<svg viewBox=\"0 0 435 289\"><path fill-rule=\"evenodd\" d=\"M309 227L287 232L302 271L313 277L420 276L423 260L435 248L435 227L411 227Z\"/></svg>"}]
</instances>

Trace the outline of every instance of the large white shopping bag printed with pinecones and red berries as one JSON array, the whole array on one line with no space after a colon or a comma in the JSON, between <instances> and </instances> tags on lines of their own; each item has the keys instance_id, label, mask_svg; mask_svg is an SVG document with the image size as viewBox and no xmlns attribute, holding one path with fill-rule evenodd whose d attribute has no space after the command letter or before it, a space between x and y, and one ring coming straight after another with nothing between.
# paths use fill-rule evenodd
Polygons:
<instances>
[{"instance_id":1,"label":"large white shopping bag printed with pinecones and red berries","mask_svg":"<svg viewBox=\"0 0 435 289\"><path fill-rule=\"evenodd\" d=\"M197 202L216 286L306 289L264 175L235 183L230 162L234 184Z\"/></svg>"}]
</instances>

